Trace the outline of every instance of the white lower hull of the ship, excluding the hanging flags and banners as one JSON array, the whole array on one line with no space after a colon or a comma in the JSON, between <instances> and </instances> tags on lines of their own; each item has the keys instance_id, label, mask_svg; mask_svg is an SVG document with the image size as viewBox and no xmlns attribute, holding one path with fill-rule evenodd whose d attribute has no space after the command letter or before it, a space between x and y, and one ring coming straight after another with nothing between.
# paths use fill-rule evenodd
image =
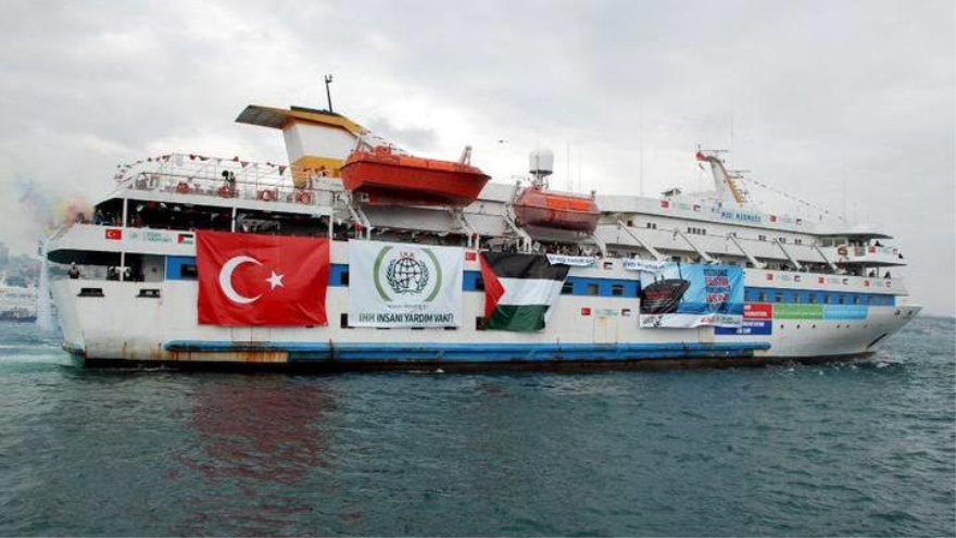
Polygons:
<instances>
[{"instance_id":1,"label":"white lower hull of the ship, excluding the hanging flags and banners","mask_svg":"<svg viewBox=\"0 0 956 538\"><path fill-rule=\"evenodd\" d=\"M336 262L347 262L342 259L345 250L343 243L335 246ZM474 262L466 267L476 268ZM576 268L574 274L633 278L619 268ZM765 279L764 271L747 272L749 287ZM84 288L99 290L102 297L85 297ZM348 310L349 290L330 286L328 326L219 327L197 323L198 288L196 280L56 280L52 291L61 312L64 347L89 364L102 365L244 364L329 370L719 366L872 353L919 311L902 304L875 305L866 309L864 318L773 320L769 335L718 335L709 326L641 328L636 297L569 295L561 297L546 328L539 333L485 331L476 324L455 330L376 329L342 327L339 321ZM159 297L140 297L143 289L156 290ZM483 306L485 293L464 293L465 320L482 315Z\"/></svg>"}]
</instances>

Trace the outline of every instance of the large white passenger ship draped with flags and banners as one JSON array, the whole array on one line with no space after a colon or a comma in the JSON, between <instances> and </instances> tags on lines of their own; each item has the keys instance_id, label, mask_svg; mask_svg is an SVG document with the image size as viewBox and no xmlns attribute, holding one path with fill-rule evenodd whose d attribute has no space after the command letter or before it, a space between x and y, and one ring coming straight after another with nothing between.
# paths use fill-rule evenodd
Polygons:
<instances>
[{"instance_id":1,"label":"large white passenger ship draped with flags and banners","mask_svg":"<svg viewBox=\"0 0 956 538\"><path fill-rule=\"evenodd\" d=\"M327 110L249 105L237 122L281 132L288 162L124 164L89 220L47 238L63 347L80 363L814 363L869 356L921 310L891 235L765 210L718 150L689 152L709 190L578 193L552 188L540 148L501 182L470 148L415 155Z\"/></svg>"}]
</instances>

